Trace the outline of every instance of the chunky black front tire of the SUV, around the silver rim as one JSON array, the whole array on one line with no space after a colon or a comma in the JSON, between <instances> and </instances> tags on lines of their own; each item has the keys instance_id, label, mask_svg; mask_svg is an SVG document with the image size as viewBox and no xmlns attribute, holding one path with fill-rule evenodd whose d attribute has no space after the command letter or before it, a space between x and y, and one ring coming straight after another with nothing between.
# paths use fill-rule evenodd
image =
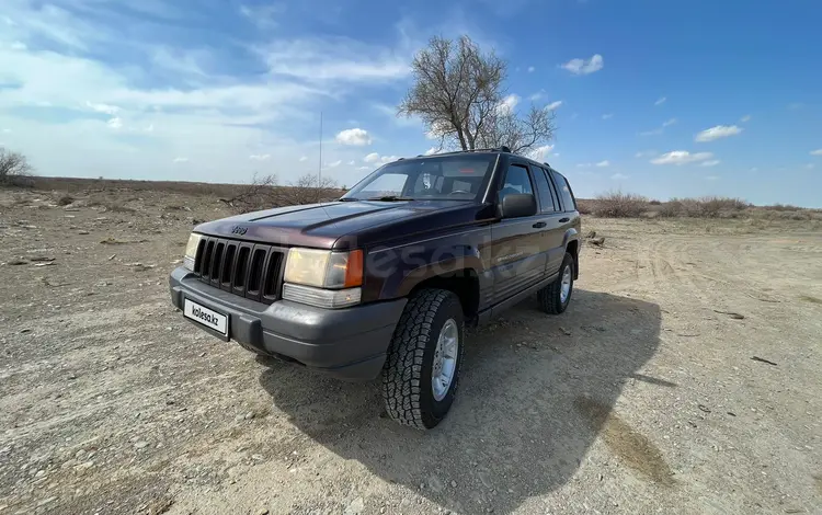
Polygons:
<instances>
[{"instance_id":1,"label":"chunky black front tire of the SUV, around the silver rim","mask_svg":"<svg viewBox=\"0 0 822 515\"><path fill-rule=\"evenodd\" d=\"M448 319L457 323L459 345L450 387L437 401L431 374L439 331ZM397 323L383 368L383 398L388 415L419 430L430 430L442 422L454 402L464 350L465 322L457 296L445 289L415 293Z\"/></svg>"}]
</instances>

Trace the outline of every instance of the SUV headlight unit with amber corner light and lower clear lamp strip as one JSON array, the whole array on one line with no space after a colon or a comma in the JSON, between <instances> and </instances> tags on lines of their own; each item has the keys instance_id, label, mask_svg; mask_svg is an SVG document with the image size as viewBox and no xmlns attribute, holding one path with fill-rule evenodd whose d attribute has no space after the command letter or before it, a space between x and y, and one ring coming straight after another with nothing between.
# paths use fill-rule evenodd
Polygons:
<instances>
[{"instance_id":1,"label":"SUV headlight unit with amber corner light and lower clear lamp strip","mask_svg":"<svg viewBox=\"0 0 822 515\"><path fill-rule=\"evenodd\" d=\"M363 251L290 249L285 263L283 298L320 308L359 304Z\"/></svg>"}]
</instances>

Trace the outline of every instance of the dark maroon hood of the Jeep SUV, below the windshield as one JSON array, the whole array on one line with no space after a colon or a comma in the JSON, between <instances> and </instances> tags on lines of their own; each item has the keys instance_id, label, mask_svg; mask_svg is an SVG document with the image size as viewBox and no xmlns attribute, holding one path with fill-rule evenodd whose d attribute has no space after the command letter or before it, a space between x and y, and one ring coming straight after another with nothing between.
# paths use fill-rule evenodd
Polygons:
<instances>
[{"instance_id":1,"label":"dark maroon hood of the Jeep SUV, below the windshield","mask_svg":"<svg viewBox=\"0 0 822 515\"><path fill-rule=\"evenodd\" d=\"M284 247L344 250L476 222L482 207L465 201L330 202L247 213L194 230Z\"/></svg>"}]
</instances>

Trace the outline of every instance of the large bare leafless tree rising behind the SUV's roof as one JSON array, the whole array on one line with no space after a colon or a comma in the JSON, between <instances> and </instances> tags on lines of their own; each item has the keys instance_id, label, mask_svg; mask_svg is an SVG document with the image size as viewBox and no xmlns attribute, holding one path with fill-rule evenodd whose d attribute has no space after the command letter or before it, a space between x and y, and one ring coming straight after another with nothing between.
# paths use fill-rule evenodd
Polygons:
<instances>
[{"instance_id":1,"label":"large bare leafless tree rising behind the SUV's roof","mask_svg":"<svg viewBox=\"0 0 822 515\"><path fill-rule=\"evenodd\" d=\"M553 112L532 106L521 117L503 99L507 64L483 54L470 37L433 37L411 65L414 84L398 115L419 116L439 148L472 150L505 145L523 153L553 136Z\"/></svg>"}]
</instances>

